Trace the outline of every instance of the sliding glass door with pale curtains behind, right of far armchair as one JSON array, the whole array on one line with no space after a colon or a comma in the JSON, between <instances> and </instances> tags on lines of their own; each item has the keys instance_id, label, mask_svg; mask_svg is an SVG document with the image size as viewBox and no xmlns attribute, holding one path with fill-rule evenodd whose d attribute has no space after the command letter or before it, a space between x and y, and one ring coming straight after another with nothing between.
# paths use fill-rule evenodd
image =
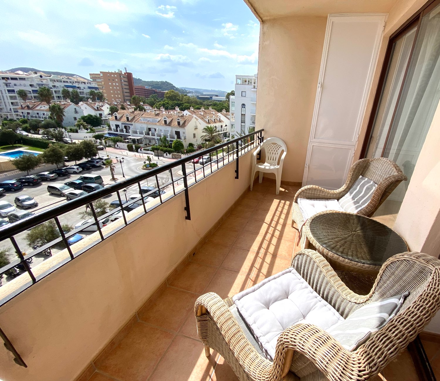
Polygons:
<instances>
[{"instance_id":1,"label":"sliding glass door with pale curtains behind, right of far armchair","mask_svg":"<svg viewBox=\"0 0 440 381\"><path fill-rule=\"evenodd\" d=\"M364 148L365 157L387 157L408 177L375 214L393 225L440 100L440 5L392 38L388 56Z\"/></svg>"}]
</instances>

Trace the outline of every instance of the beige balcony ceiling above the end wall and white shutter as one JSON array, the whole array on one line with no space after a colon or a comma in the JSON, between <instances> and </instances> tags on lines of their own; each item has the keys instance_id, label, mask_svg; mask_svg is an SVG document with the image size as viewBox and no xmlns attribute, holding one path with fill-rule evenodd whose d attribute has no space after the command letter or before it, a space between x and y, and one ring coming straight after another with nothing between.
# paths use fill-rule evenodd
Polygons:
<instances>
[{"instance_id":1,"label":"beige balcony ceiling above the end wall and white shutter","mask_svg":"<svg viewBox=\"0 0 440 381\"><path fill-rule=\"evenodd\" d=\"M388 13L397 0L244 0L260 20L335 13Z\"/></svg>"}]
</instances>

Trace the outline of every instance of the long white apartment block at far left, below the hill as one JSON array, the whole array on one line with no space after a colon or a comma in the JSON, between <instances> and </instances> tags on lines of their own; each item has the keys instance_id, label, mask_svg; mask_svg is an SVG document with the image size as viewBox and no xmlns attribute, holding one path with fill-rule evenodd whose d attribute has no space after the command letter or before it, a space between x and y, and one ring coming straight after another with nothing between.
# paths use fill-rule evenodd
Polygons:
<instances>
[{"instance_id":1,"label":"long white apartment block at far left, below the hill","mask_svg":"<svg viewBox=\"0 0 440 381\"><path fill-rule=\"evenodd\" d=\"M54 101L62 100L62 89L77 90L81 97L88 97L91 90L98 90L96 82L80 76L59 76L41 72L0 72L0 119L16 118L19 116L18 107L23 99L17 91L25 90L27 100L38 100L38 89L51 89Z\"/></svg>"}]
</instances>

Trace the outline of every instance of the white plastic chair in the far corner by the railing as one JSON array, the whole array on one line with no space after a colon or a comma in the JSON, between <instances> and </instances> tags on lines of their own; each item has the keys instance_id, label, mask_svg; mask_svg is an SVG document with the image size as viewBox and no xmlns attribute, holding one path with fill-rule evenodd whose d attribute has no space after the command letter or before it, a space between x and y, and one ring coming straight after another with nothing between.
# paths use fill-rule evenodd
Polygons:
<instances>
[{"instance_id":1,"label":"white plastic chair in the far corner by the railing","mask_svg":"<svg viewBox=\"0 0 440 381\"><path fill-rule=\"evenodd\" d=\"M257 154L261 149L266 153L266 161L264 163L257 163ZM284 151L284 152L283 152ZM281 152L283 154L281 155ZM252 162L252 176L250 178L250 190L252 190L255 172L260 171L259 182L263 181L263 173L275 173L276 178L276 194L279 194L279 187L281 184L282 162L286 156L287 148L280 138L268 138L260 144L260 146L253 153ZM281 159L280 159L281 155Z\"/></svg>"}]
</instances>

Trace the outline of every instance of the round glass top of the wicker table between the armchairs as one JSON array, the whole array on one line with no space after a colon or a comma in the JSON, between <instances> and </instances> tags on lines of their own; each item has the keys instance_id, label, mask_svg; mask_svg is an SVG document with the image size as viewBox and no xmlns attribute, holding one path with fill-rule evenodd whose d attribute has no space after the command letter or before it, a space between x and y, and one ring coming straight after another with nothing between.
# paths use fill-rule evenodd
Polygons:
<instances>
[{"instance_id":1,"label":"round glass top of the wicker table between the armchairs","mask_svg":"<svg viewBox=\"0 0 440 381\"><path fill-rule=\"evenodd\" d=\"M326 250L367 265L380 266L389 257L408 251L394 230L359 214L319 214L312 217L309 232Z\"/></svg>"}]
</instances>

